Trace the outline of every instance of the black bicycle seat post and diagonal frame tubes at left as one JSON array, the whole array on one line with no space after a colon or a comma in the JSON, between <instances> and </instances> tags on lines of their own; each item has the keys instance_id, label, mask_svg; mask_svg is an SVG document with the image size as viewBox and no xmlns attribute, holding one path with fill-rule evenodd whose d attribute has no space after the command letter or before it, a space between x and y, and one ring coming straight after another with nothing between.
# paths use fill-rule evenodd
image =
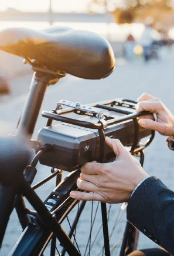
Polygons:
<instances>
[{"instance_id":1,"label":"black bicycle seat post and diagonal frame tubes at left","mask_svg":"<svg viewBox=\"0 0 174 256\"><path fill-rule=\"evenodd\" d=\"M54 75L54 78L53 78L53 75ZM39 114L39 110L42 105L43 96L46 91L46 87L47 85L52 83L53 79L54 81L56 79L56 82L57 82L61 76L62 75L56 74L56 73L49 74L49 73L40 72L40 71L36 71L34 73L32 82L29 88L28 98L26 99L26 104L23 109L21 119L19 121L17 134L16 134L17 137L25 136L26 134L29 136L29 138L32 137L37 116ZM4 223L1 223L0 225L0 230L2 231L0 242L2 242L2 239L4 237L5 228L9 220L9 215L13 210L12 205L13 205L13 202L15 201L15 195L18 194L19 188L20 188L21 194L25 195L25 197L30 202L30 204L32 204L33 208L35 208L35 210L38 212L42 220L45 220L45 222L49 224L50 230L54 232L57 238L59 237L58 238L59 241L62 240L63 243L64 241L67 242L67 243L64 243L64 247L66 248L67 252L68 253L73 252L74 255L80 255L76 247L74 247L73 243L69 239L69 237L62 230L62 228L57 223L57 221L54 218L52 218L52 215L47 210L43 202L40 200L39 197L37 197L36 193L33 191L32 188L30 188L30 185L23 177L20 177L20 179L18 180L18 184L15 184L14 188L12 187L12 189L5 187L4 185L2 185L0 188L0 194L1 194L0 200L2 200L1 202L4 201L5 195L8 195L8 198L6 198L6 204L4 205L4 208L3 208L3 212L1 211L2 212L1 215L2 216L5 215L6 217L5 217ZM22 208L24 210L25 205L23 205ZM63 237L65 240L62 239Z\"/></svg>"}]
</instances>

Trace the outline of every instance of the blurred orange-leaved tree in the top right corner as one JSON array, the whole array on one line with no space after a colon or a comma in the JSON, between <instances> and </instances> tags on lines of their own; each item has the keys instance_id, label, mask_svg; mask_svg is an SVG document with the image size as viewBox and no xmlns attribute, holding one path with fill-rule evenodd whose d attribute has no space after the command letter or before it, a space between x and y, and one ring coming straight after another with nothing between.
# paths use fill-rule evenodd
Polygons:
<instances>
[{"instance_id":1,"label":"blurred orange-leaved tree in the top right corner","mask_svg":"<svg viewBox=\"0 0 174 256\"><path fill-rule=\"evenodd\" d=\"M165 34L174 26L174 0L91 0L91 12L110 12L118 24L134 21Z\"/></svg>"}]
</instances>

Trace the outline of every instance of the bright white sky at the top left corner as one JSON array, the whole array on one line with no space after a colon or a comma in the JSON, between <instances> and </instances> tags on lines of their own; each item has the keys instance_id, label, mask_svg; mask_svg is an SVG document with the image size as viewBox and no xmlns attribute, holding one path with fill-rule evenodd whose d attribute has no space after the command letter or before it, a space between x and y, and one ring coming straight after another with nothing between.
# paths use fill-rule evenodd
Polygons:
<instances>
[{"instance_id":1,"label":"bright white sky at the top left corner","mask_svg":"<svg viewBox=\"0 0 174 256\"><path fill-rule=\"evenodd\" d=\"M90 0L52 0L52 9L56 12L86 12ZM5 0L0 5L0 10L15 8L21 11L46 12L50 0Z\"/></svg>"}]
</instances>

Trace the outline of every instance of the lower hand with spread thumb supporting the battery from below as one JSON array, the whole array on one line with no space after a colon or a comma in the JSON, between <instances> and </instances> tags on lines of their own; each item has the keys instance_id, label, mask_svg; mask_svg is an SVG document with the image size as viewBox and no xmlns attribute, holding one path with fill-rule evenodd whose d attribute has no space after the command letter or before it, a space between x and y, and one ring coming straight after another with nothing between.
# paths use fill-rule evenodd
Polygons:
<instances>
[{"instance_id":1,"label":"lower hand with spread thumb supporting the battery from below","mask_svg":"<svg viewBox=\"0 0 174 256\"><path fill-rule=\"evenodd\" d=\"M84 164L80 178L77 179L77 187L94 193L71 191L70 197L110 204L127 202L138 183L148 177L138 160L132 157L118 139L106 137L105 142L113 149L115 161L105 164L93 161Z\"/></svg>"}]
</instances>

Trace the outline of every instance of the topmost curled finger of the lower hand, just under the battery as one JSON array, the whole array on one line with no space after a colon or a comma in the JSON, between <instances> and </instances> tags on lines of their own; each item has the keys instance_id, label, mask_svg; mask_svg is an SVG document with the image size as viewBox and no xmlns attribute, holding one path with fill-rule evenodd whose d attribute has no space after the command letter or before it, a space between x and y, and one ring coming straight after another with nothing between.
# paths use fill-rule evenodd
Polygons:
<instances>
[{"instance_id":1,"label":"topmost curled finger of the lower hand, just under the battery","mask_svg":"<svg viewBox=\"0 0 174 256\"><path fill-rule=\"evenodd\" d=\"M87 162L80 169L84 174L97 175L102 169L102 165L96 161Z\"/></svg>"}]
</instances>

